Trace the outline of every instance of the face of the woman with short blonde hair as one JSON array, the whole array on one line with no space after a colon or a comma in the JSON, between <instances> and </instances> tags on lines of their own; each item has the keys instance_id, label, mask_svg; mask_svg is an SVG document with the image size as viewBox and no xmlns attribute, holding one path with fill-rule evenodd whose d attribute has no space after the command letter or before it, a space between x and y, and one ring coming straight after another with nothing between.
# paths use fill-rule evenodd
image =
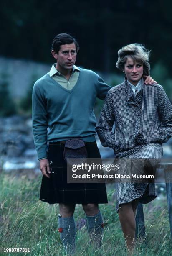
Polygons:
<instances>
[{"instance_id":1,"label":"face of the woman with short blonde hair","mask_svg":"<svg viewBox=\"0 0 172 256\"><path fill-rule=\"evenodd\" d=\"M137 85L143 75L143 64L141 62L135 62L129 57L124 64L124 72L127 80L131 84Z\"/></svg>"}]
</instances>

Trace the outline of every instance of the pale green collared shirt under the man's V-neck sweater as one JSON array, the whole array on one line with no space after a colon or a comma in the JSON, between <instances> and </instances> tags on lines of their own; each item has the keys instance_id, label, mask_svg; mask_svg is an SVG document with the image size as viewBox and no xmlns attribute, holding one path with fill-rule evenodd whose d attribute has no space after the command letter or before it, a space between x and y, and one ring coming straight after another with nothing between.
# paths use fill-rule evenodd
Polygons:
<instances>
[{"instance_id":1,"label":"pale green collared shirt under the man's V-neck sweater","mask_svg":"<svg viewBox=\"0 0 172 256\"><path fill-rule=\"evenodd\" d=\"M63 86L66 90L72 90L75 86L76 82L78 81L80 69L73 65L72 74L69 79L66 79L66 77L61 74L56 69L56 63L52 65L51 70L49 72L50 77L52 77L58 84Z\"/></svg>"}]
</instances>

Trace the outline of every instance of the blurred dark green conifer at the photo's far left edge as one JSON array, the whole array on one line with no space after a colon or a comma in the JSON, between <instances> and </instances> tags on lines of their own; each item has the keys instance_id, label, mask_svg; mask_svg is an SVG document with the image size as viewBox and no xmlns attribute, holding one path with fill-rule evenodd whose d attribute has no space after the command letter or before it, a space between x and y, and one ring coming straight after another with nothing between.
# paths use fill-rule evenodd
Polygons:
<instances>
[{"instance_id":1,"label":"blurred dark green conifer at the photo's far left edge","mask_svg":"<svg viewBox=\"0 0 172 256\"><path fill-rule=\"evenodd\" d=\"M15 103L10 96L8 89L9 83L7 74L1 74L0 81L0 116L9 116L15 114Z\"/></svg>"}]
</instances>

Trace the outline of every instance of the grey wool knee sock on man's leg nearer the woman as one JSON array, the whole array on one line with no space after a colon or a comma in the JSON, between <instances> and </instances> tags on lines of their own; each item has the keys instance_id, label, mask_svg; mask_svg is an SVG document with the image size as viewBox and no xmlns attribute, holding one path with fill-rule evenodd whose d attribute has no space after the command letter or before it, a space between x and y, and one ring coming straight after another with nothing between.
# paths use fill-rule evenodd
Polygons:
<instances>
[{"instance_id":1,"label":"grey wool knee sock on man's leg nearer the woman","mask_svg":"<svg viewBox=\"0 0 172 256\"><path fill-rule=\"evenodd\" d=\"M91 241L93 241L96 248L99 248L101 246L101 240L103 237L103 230L104 230L104 222L101 215L101 212L99 211L94 216L88 216L86 215L86 226L87 230L89 232Z\"/></svg>"}]
</instances>

